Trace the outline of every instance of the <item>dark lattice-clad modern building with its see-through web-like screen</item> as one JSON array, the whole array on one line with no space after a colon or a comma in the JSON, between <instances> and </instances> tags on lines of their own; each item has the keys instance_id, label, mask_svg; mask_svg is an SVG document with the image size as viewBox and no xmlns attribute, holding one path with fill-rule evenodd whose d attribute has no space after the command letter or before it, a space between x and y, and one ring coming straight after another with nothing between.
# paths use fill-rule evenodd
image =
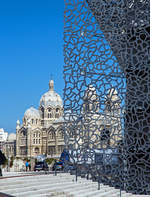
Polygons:
<instances>
[{"instance_id":1,"label":"dark lattice-clad modern building with its see-through web-like screen","mask_svg":"<svg viewBox=\"0 0 150 197\"><path fill-rule=\"evenodd\" d=\"M65 0L65 141L77 174L150 194L150 1Z\"/></svg>"}]
</instances>

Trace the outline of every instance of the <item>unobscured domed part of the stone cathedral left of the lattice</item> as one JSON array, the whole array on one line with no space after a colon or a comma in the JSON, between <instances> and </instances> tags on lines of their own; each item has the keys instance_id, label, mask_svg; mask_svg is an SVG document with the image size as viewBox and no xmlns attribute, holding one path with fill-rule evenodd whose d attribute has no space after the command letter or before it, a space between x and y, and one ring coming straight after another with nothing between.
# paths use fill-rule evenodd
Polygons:
<instances>
[{"instance_id":1,"label":"unobscured domed part of the stone cathedral left of the lattice","mask_svg":"<svg viewBox=\"0 0 150 197\"><path fill-rule=\"evenodd\" d=\"M50 80L49 91L41 97L39 108L27 109L22 125L17 120L16 157L59 157L64 148L63 122L63 102Z\"/></svg>"}]
</instances>

